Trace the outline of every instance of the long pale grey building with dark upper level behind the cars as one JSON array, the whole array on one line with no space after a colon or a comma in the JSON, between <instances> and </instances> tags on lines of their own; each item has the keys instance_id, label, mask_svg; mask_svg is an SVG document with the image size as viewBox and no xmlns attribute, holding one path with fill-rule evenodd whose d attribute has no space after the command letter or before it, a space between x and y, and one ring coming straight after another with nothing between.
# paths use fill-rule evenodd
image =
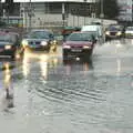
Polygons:
<instances>
[{"instance_id":1,"label":"long pale grey building with dark upper level behind the cars","mask_svg":"<svg viewBox=\"0 0 133 133\"><path fill-rule=\"evenodd\" d=\"M14 16L23 27L81 25L95 18L95 0L14 0L13 13L4 10L3 19L11 22Z\"/></svg>"}]
</instances>

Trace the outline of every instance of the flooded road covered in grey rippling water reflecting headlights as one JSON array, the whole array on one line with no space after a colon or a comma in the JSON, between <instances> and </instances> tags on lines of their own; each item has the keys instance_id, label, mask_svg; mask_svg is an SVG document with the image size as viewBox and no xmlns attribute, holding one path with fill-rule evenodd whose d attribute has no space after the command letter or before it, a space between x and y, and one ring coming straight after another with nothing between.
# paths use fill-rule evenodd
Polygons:
<instances>
[{"instance_id":1,"label":"flooded road covered in grey rippling water reflecting headlights","mask_svg":"<svg viewBox=\"0 0 133 133\"><path fill-rule=\"evenodd\" d=\"M132 40L95 47L89 63L63 64L59 47L58 53L25 53L1 65L0 131L133 132Z\"/></svg>"}]
</instances>

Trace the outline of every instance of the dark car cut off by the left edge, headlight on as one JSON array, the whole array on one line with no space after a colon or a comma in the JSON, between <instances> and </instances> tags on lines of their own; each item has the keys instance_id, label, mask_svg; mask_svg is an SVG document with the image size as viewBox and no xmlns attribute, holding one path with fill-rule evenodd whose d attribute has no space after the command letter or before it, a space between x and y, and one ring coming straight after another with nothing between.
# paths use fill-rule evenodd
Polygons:
<instances>
[{"instance_id":1,"label":"dark car cut off by the left edge, headlight on","mask_svg":"<svg viewBox=\"0 0 133 133\"><path fill-rule=\"evenodd\" d=\"M0 57L16 58L20 49L19 34L16 32L0 31Z\"/></svg>"}]
</instances>

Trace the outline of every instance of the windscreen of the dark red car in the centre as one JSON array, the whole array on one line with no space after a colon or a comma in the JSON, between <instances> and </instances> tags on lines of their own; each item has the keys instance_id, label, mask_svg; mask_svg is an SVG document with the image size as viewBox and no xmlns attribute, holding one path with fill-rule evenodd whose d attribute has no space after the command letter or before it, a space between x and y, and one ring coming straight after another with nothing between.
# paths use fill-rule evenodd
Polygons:
<instances>
[{"instance_id":1,"label":"windscreen of the dark red car in the centre","mask_svg":"<svg viewBox=\"0 0 133 133\"><path fill-rule=\"evenodd\" d=\"M68 37L66 41L91 41L91 33L72 33Z\"/></svg>"}]
</instances>

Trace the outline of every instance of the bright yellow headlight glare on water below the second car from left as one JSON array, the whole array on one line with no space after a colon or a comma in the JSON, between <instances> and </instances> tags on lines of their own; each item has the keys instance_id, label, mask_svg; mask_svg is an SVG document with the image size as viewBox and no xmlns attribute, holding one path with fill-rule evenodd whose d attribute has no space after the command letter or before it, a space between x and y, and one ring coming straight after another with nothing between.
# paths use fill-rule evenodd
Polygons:
<instances>
[{"instance_id":1,"label":"bright yellow headlight glare on water below the second car from left","mask_svg":"<svg viewBox=\"0 0 133 133\"><path fill-rule=\"evenodd\" d=\"M47 53L31 53L27 51L23 57L22 72L23 75L27 78L29 74L33 74L37 71L37 66L39 65L40 71L38 71L37 73L41 73L41 76L47 80L48 69L55 68L58 62L59 61L57 57L50 57ZM34 71L32 71L33 69Z\"/></svg>"}]
</instances>

